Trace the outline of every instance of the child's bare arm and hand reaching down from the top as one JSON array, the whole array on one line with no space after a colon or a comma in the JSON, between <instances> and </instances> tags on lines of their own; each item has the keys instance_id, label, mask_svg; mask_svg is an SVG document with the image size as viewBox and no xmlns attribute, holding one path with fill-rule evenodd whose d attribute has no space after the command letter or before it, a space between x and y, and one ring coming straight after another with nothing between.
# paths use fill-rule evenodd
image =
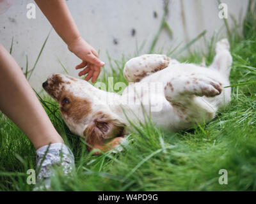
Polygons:
<instances>
[{"instance_id":1,"label":"child's bare arm and hand reaching down from the top","mask_svg":"<svg viewBox=\"0 0 256 204\"><path fill-rule=\"evenodd\" d=\"M87 66L79 73L79 76L88 73L85 80L92 78L92 82L95 82L104 62L100 61L96 50L81 37L65 0L35 0L35 2L55 31L68 45L68 49L83 61L76 66L76 69Z\"/></svg>"}]
</instances>

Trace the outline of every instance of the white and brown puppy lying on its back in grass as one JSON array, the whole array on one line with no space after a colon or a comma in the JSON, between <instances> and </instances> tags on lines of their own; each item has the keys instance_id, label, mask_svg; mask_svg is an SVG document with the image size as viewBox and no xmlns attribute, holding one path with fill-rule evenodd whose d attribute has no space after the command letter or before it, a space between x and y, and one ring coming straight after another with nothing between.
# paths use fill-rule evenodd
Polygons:
<instances>
[{"instance_id":1,"label":"white and brown puppy lying on its back in grass","mask_svg":"<svg viewBox=\"0 0 256 204\"><path fill-rule=\"evenodd\" d=\"M156 126L170 131L212 120L230 102L230 88L223 89L230 85L228 50L228 41L219 41L209 68L165 55L132 58L125 64L124 77L134 83L122 95L63 74L52 74L43 87L59 103L70 131L84 137L89 150L105 151L124 140L128 119L145 122L145 114Z\"/></svg>"}]
</instances>

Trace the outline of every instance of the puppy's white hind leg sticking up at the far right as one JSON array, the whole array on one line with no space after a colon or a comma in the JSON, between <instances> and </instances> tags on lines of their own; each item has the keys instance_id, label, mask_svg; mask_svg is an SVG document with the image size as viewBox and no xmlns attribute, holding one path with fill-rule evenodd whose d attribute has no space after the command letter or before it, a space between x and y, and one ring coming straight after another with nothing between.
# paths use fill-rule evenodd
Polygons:
<instances>
[{"instance_id":1,"label":"puppy's white hind leg sticking up at the far right","mask_svg":"<svg viewBox=\"0 0 256 204\"><path fill-rule=\"evenodd\" d=\"M228 40L225 38L223 40L218 41L216 43L216 56L209 68L217 69L220 71L222 75L229 77L231 64L232 64L232 56L229 52L229 43Z\"/></svg>"}]
</instances>

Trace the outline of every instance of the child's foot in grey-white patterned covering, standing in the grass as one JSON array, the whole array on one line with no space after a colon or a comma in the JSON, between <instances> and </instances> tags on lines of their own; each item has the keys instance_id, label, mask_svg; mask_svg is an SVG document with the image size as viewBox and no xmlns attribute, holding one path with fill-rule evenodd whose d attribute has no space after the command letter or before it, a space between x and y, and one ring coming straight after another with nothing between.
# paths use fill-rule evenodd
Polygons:
<instances>
[{"instance_id":1,"label":"child's foot in grey-white patterned covering, standing in the grass","mask_svg":"<svg viewBox=\"0 0 256 204\"><path fill-rule=\"evenodd\" d=\"M36 168L38 169L36 183L40 184L41 187L49 188L51 177L54 175L52 166L55 165L60 166L66 175L74 170L74 156L67 145L53 143L36 150ZM38 190L38 188L34 190Z\"/></svg>"}]
</instances>

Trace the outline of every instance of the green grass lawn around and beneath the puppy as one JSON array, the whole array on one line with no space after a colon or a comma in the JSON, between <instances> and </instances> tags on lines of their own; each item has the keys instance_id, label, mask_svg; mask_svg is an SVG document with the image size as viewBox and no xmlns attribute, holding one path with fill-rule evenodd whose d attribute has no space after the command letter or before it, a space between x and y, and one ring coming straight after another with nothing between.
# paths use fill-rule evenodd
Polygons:
<instances>
[{"instance_id":1,"label":"green grass lawn around and beneath the puppy","mask_svg":"<svg viewBox=\"0 0 256 204\"><path fill-rule=\"evenodd\" d=\"M41 102L76 159L75 175L67 178L57 173L51 190L255 191L256 21L248 15L239 28L234 27L229 35L232 101L209 124L179 133L157 129L150 121L145 126L134 124L137 131L129 135L130 142L122 152L93 156L86 150L85 142L70 133L58 105L45 94ZM207 43L207 52L197 51L178 59L200 63L204 55L209 65L216 38ZM110 64L118 70L125 61L124 58ZM122 73L115 71L99 81L106 82L106 77L124 82ZM26 171L35 168L35 149L24 133L0 114L0 190L31 191L33 185L27 184ZM228 172L227 185L218 182L221 169Z\"/></svg>"}]
</instances>

